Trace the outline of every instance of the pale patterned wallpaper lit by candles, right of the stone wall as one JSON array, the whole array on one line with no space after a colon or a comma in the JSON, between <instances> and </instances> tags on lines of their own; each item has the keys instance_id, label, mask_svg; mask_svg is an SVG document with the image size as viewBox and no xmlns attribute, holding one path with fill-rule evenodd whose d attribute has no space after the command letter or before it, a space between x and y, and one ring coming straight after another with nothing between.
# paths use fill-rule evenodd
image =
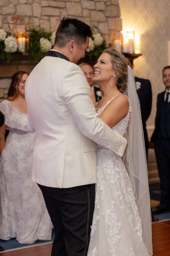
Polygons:
<instances>
[{"instance_id":1,"label":"pale patterned wallpaper lit by candles, right of the stone wall","mask_svg":"<svg viewBox=\"0 0 170 256\"><path fill-rule=\"evenodd\" d=\"M152 85L152 111L147 128L154 125L157 94L164 91L162 69L168 63L170 41L169 0L119 0L122 25L140 36L142 56L134 60L135 76L149 79Z\"/></svg>"}]
</instances>

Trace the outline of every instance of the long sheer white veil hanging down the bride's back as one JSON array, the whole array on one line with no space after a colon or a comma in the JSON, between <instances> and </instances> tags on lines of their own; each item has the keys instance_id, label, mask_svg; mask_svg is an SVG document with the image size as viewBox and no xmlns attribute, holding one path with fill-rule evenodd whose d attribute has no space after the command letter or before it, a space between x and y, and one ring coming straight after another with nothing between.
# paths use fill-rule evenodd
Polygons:
<instances>
[{"instance_id":1,"label":"long sheer white veil hanging down the bride's back","mask_svg":"<svg viewBox=\"0 0 170 256\"><path fill-rule=\"evenodd\" d=\"M123 163L126 166L136 204L142 224L142 238L150 255L152 255L152 222L150 211L150 195L148 185L148 171L143 136L140 103L136 92L135 77L128 66L127 89L123 93L130 101L132 112L125 134L128 147L123 155Z\"/></svg>"}]
</instances>

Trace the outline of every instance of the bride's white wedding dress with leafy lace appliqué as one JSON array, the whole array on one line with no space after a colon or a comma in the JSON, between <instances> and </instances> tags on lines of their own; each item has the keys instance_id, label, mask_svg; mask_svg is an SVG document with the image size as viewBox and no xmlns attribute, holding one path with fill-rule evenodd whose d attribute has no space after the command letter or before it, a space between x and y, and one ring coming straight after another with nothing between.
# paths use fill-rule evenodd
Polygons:
<instances>
[{"instance_id":1,"label":"bride's white wedding dress with leafy lace appliqu\u00e9","mask_svg":"<svg viewBox=\"0 0 170 256\"><path fill-rule=\"evenodd\" d=\"M98 109L98 115L115 97ZM124 135L131 111L129 106L126 117L112 130ZM142 240L138 208L122 158L98 144L97 178L95 210L87 255L149 256Z\"/></svg>"}]
</instances>

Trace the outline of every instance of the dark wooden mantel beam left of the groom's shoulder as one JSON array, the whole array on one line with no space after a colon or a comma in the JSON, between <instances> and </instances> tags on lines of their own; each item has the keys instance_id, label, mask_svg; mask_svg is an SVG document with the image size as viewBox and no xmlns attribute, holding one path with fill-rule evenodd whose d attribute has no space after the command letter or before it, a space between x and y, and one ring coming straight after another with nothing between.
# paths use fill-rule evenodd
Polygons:
<instances>
[{"instance_id":1,"label":"dark wooden mantel beam left of the groom's shoulder","mask_svg":"<svg viewBox=\"0 0 170 256\"><path fill-rule=\"evenodd\" d=\"M31 73L33 68L37 65L39 61L28 60L28 56L23 56L18 60L11 60L9 64L6 61L0 62L0 79L11 78L12 75L20 70L27 73Z\"/></svg>"}]
</instances>

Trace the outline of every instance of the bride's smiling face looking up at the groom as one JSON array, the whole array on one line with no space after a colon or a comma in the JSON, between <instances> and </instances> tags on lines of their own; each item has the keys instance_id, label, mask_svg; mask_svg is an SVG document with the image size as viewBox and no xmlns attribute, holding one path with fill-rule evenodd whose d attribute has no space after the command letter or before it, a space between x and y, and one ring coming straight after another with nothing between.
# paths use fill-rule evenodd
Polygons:
<instances>
[{"instance_id":1,"label":"bride's smiling face looking up at the groom","mask_svg":"<svg viewBox=\"0 0 170 256\"><path fill-rule=\"evenodd\" d=\"M94 65L95 75L93 81L104 82L114 80L116 77L115 72L112 68L112 63L108 53L104 52L100 55L97 63Z\"/></svg>"}]
</instances>

